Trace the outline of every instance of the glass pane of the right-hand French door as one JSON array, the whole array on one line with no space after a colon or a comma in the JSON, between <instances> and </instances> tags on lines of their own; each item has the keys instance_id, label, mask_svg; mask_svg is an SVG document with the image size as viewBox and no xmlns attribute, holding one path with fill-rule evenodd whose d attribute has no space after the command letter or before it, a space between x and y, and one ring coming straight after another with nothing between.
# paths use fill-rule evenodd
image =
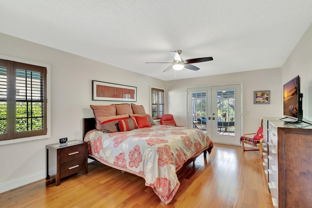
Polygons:
<instances>
[{"instance_id":1,"label":"glass pane of the right-hand French door","mask_svg":"<svg viewBox=\"0 0 312 208\"><path fill-rule=\"evenodd\" d=\"M235 136L235 90L217 90L217 134Z\"/></svg>"}]
</instances>

